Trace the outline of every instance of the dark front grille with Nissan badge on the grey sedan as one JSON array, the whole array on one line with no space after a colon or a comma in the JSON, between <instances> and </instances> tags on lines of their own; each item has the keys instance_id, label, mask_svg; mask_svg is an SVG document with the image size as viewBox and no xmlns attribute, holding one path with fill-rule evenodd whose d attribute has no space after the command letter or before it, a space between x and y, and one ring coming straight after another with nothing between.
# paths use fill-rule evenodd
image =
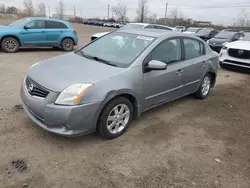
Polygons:
<instances>
[{"instance_id":1,"label":"dark front grille with Nissan badge on the grey sedan","mask_svg":"<svg viewBox=\"0 0 250 188\"><path fill-rule=\"evenodd\" d=\"M38 83L36 83L29 77L26 77L25 84L27 91L31 96L46 98L49 94L49 91L46 88L40 86Z\"/></svg>"}]
</instances>

